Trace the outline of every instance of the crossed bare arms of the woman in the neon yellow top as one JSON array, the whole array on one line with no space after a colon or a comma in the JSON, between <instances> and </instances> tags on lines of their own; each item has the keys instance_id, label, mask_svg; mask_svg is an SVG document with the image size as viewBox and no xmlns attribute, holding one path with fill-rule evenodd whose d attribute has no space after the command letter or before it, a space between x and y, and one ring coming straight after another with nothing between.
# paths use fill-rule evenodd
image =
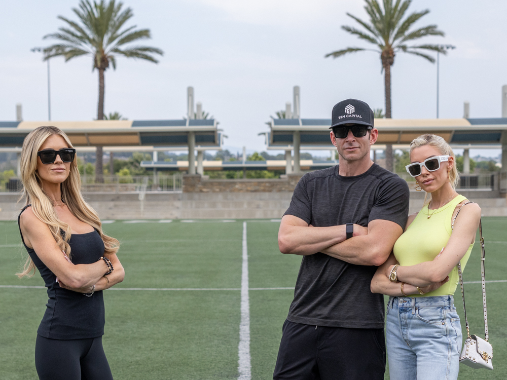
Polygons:
<instances>
[{"instance_id":1,"label":"crossed bare arms of the woman in the neon yellow top","mask_svg":"<svg viewBox=\"0 0 507 380\"><path fill-rule=\"evenodd\" d=\"M407 226L413 219L414 216L409 218ZM480 219L481 208L477 204L467 205L460 212L460 217L456 218L454 231L441 254L438 254L432 261L399 267L396 271L397 278L400 282L406 283L403 289L405 294L417 294L417 286L427 293L446 283L449 279L448 275L463 258L469 245L474 242ZM396 258L391 254L388 260L377 269L371 283L373 293L402 295L401 284L390 282L388 279L388 274L396 263Z\"/></svg>"}]
</instances>

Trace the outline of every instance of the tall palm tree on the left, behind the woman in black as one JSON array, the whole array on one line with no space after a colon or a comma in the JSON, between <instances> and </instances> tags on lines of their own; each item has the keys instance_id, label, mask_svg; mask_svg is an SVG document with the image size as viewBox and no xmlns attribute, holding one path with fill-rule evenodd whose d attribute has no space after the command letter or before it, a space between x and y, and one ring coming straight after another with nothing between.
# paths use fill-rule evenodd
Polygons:
<instances>
[{"instance_id":1,"label":"tall palm tree on the left, behind the woman in black","mask_svg":"<svg viewBox=\"0 0 507 380\"><path fill-rule=\"evenodd\" d=\"M128 45L140 40L150 39L149 29L137 29L136 25L123 27L133 17L132 9L122 10L123 3L110 0L100 2L81 0L79 9L73 8L81 23L63 16L58 18L67 25L58 32L47 34L45 39L59 40L59 43L44 49L44 60L62 56L65 62L80 56L92 58L92 70L98 70L97 120L104 119L104 71L109 65L116 69L116 58L139 58L154 63L154 54L163 55L162 50L149 46ZM123 29L122 29L123 28ZM97 146L95 174L102 178L102 146Z\"/></svg>"}]
</instances>

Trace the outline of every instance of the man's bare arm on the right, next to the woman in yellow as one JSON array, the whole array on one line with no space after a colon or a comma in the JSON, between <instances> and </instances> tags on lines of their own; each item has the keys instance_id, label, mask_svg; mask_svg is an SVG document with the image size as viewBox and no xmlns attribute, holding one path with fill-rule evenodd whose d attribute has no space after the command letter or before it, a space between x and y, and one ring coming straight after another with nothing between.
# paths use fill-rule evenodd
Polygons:
<instances>
[{"instance_id":1,"label":"man's bare arm on the right, next to the woman in yellow","mask_svg":"<svg viewBox=\"0 0 507 380\"><path fill-rule=\"evenodd\" d=\"M375 219L368 223L368 235L354 236L323 248L320 252L357 265L382 265L389 257L402 227L390 220Z\"/></svg>"}]
</instances>

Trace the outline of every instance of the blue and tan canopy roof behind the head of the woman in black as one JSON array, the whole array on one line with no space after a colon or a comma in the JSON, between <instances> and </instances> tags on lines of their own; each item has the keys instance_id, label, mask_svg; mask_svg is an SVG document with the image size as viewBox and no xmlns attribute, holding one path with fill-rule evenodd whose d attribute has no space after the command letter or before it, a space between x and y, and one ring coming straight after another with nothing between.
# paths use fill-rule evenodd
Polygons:
<instances>
[{"instance_id":1,"label":"blue and tan canopy roof behind the head of the woman in black","mask_svg":"<svg viewBox=\"0 0 507 380\"><path fill-rule=\"evenodd\" d=\"M221 135L211 120L95 120L90 122L0 122L0 146L21 146L33 129L52 125L63 130L75 146L188 146L189 132L195 145L220 149Z\"/></svg>"}]
</instances>

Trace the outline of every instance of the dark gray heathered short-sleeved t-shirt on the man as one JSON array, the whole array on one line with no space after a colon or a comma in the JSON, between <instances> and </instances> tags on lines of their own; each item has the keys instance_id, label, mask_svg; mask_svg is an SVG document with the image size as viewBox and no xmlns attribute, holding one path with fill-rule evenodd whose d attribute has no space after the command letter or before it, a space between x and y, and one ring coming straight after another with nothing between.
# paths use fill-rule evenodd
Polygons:
<instances>
[{"instance_id":1,"label":"dark gray heathered short-sleeved t-shirt on the man","mask_svg":"<svg viewBox=\"0 0 507 380\"><path fill-rule=\"evenodd\" d=\"M363 174L344 177L337 165L305 174L284 215L315 227L346 223L366 227L383 219L404 229L408 211L409 188L396 174L374 164ZM376 270L321 252L303 256L287 319L318 326L383 328L384 296L370 290Z\"/></svg>"}]
</instances>

